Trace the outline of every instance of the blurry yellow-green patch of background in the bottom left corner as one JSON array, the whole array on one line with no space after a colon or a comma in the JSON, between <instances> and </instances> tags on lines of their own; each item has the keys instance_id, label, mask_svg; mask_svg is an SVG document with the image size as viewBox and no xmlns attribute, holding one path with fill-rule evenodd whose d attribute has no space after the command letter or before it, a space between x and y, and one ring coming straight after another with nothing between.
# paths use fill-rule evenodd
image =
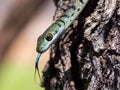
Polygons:
<instances>
[{"instance_id":1,"label":"blurry yellow-green patch of background in the bottom left corner","mask_svg":"<svg viewBox=\"0 0 120 90\"><path fill-rule=\"evenodd\" d=\"M0 71L2 72L0 90L44 90L39 86L39 78L36 77L36 81L34 80L32 66L20 66L7 62L2 65Z\"/></svg>"}]
</instances>

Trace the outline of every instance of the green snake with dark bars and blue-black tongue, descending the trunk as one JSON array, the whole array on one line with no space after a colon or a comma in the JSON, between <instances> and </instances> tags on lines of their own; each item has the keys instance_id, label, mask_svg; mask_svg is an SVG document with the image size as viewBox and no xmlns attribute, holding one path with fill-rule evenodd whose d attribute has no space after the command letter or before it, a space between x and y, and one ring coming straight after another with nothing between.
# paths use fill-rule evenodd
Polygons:
<instances>
[{"instance_id":1,"label":"green snake with dark bars and blue-black tongue, descending the trunk","mask_svg":"<svg viewBox=\"0 0 120 90\"><path fill-rule=\"evenodd\" d=\"M38 62L42 53L44 53L58 38L64 34L65 30L82 12L89 0L75 0L73 5L67 9L48 29L39 36L37 40L38 56L35 63L35 73L38 71L40 77Z\"/></svg>"}]
</instances>

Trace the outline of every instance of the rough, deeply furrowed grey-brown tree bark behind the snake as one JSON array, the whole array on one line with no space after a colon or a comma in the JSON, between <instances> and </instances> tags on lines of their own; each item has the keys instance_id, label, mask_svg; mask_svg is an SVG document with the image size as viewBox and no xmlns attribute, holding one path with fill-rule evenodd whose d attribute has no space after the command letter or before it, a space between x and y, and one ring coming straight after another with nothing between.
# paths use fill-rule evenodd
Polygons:
<instances>
[{"instance_id":1,"label":"rough, deeply furrowed grey-brown tree bark behind the snake","mask_svg":"<svg viewBox=\"0 0 120 90\"><path fill-rule=\"evenodd\" d=\"M73 0L54 0L58 18ZM120 0L90 0L52 45L45 90L120 90Z\"/></svg>"}]
</instances>

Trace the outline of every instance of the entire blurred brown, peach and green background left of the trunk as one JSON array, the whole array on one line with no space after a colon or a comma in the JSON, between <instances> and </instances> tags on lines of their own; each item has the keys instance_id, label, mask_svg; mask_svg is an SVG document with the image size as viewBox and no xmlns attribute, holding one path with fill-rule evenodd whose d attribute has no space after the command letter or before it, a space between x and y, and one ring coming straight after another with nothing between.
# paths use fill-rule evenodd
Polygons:
<instances>
[{"instance_id":1,"label":"entire blurred brown, peach and green background left of the trunk","mask_svg":"<svg viewBox=\"0 0 120 90\"><path fill-rule=\"evenodd\" d=\"M54 12L53 0L0 0L0 90L44 90L34 80L36 42ZM40 72L48 60L49 50L41 56Z\"/></svg>"}]
</instances>

